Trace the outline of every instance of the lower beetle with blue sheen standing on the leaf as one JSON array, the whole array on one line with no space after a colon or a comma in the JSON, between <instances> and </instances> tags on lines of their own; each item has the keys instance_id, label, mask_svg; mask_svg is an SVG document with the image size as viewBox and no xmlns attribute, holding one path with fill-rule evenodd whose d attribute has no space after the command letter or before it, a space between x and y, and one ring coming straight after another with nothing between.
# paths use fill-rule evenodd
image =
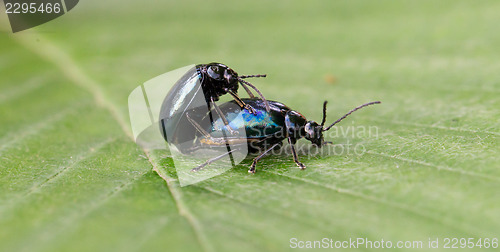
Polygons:
<instances>
[{"instance_id":1,"label":"lower beetle with blue sheen standing on the leaf","mask_svg":"<svg viewBox=\"0 0 500 252\"><path fill-rule=\"evenodd\" d=\"M214 125L220 125L221 122L218 122L218 120L222 120L221 118L213 118L211 117L212 115L207 115L202 121L197 122L190 119L189 114L187 115L188 120L193 124L198 133L198 137L194 143L197 148L226 148L228 144L235 147L232 151L228 151L206 161L202 165L194 168L193 171L198 171L224 156L231 155L233 151L237 150L238 146L246 144L249 153L262 152L259 156L254 158L250 170L248 170L250 173L255 173L257 162L271 150L279 149L285 139L288 140L291 146L293 160L297 166L301 169L305 169L305 165L299 162L297 152L295 151L294 145L298 139L305 138L311 141L313 145L321 147L329 143L324 141L323 132L328 131L354 111L380 103L380 101L375 101L358 106L325 128L326 101L323 103L323 120L321 124L318 124L315 121L307 121L302 114L290 109L280 102L268 101L270 111L267 111L266 104L260 99L253 98L242 100L245 104L252 106L255 109L255 113L250 113L248 110L235 110L235 101L226 102L220 105L219 108L225 118L229 120L231 128L245 129L246 136L244 139L242 136L231 136L216 129ZM209 114L210 113L211 112L209 112ZM241 116L243 120L234 120L237 116Z\"/></svg>"}]
</instances>

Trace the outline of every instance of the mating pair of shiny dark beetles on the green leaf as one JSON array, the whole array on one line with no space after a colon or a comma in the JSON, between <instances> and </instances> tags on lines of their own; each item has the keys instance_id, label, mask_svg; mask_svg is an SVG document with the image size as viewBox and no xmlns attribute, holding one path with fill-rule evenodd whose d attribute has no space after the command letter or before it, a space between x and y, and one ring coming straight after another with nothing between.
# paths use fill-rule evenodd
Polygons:
<instances>
[{"instance_id":1,"label":"mating pair of shiny dark beetles on the green leaf","mask_svg":"<svg viewBox=\"0 0 500 252\"><path fill-rule=\"evenodd\" d=\"M181 78L165 98L160 111L160 129L166 141L174 143L177 149L185 154L203 148L223 151L222 154L207 160L192 171L198 171L245 148L248 153L260 152L260 155L254 158L249 170L250 173L254 173L258 161L270 151L280 148L284 140L289 142L297 166L305 169L295 151L294 145L298 139L305 138L313 145L321 147L325 144L324 131L354 111L380 103L376 101L363 104L328 127L324 127L326 101L323 104L321 123L308 121L302 114L286 105L267 100L255 86L243 80L249 77L265 77L265 75L238 76L234 70L220 63L201 64L196 66L196 73L188 73ZM199 81L201 88L190 86L192 79ZM238 96L239 85L242 85L250 98ZM255 90L261 99L255 98L248 87ZM192 103L195 95L200 95L200 89L206 106L203 109L193 108L188 104ZM230 94L234 100L217 105L215 102L225 94ZM173 137L168 139L167 136Z\"/></svg>"}]
</instances>

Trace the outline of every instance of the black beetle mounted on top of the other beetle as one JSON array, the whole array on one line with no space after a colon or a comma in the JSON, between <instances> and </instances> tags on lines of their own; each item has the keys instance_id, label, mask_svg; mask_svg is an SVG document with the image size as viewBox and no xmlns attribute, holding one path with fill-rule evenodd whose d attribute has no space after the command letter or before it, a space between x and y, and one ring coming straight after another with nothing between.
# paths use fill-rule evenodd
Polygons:
<instances>
[{"instance_id":1,"label":"black beetle mounted on top of the other beetle","mask_svg":"<svg viewBox=\"0 0 500 252\"><path fill-rule=\"evenodd\" d=\"M185 113L190 111L193 117L204 116L212 107L216 114L222 119L224 125L228 121L215 103L219 97L230 94L236 104L241 108L246 108L250 113L255 110L242 101L237 95L238 87L241 84L251 98L255 96L250 91L254 89L265 103L266 110L270 107L262 93L251 83L243 80L251 77L266 77L266 75L238 75L233 69L221 63L199 64L186 72L164 98L160 108L159 124L163 138L167 141L180 145L192 140L194 129L191 131L190 123L186 121ZM227 130L234 135L235 131L230 127ZM180 147L181 151L185 148Z\"/></svg>"}]
</instances>

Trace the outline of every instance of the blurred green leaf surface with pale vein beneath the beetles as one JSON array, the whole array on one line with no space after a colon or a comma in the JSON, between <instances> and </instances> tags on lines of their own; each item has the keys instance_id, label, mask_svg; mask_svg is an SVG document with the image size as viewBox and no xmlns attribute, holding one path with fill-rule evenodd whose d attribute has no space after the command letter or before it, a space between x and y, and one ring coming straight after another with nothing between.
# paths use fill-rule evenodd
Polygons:
<instances>
[{"instance_id":1,"label":"blurred green leaf surface with pale vein beneath the beetles","mask_svg":"<svg viewBox=\"0 0 500 252\"><path fill-rule=\"evenodd\" d=\"M285 251L290 238L500 238L500 2L80 1L1 14L0 251ZM223 62L362 155L247 160L179 187L131 139L128 94ZM242 93L243 94L243 93ZM158 176L160 175L160 176Z\"/></svg>"}]
</instances>

